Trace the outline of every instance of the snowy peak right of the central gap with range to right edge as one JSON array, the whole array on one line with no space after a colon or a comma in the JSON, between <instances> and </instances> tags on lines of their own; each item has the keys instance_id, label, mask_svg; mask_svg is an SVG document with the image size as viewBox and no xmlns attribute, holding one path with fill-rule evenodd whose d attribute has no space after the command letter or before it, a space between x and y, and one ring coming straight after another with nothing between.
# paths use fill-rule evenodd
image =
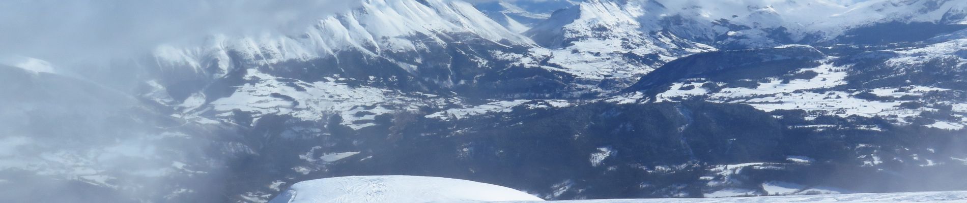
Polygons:
<instances>
[{"instance_id":1,"label":"snowy peak right of the central gap with range to right edge","mask_svg":"<svg viewBox=\"0 0 967 203\"><path fill-rule=\"evenodd\" d=\"M965 8L967 1L589 0L523 34L538 43L549 43L542 44L549 49L531 50L537 58L563 66L543 68L582 79L622 80L637 78L684 56L717 50L710 45L763 48L784 44L769 38L770 30L783 29L796 41L829 41L876 23L942 23L944 16L963 13ZM668 26L667 21L679 24ZM734 30L722 22L748 29ZM733 38L713 40L725 35ZM624 57L630 54L654 57L656 63L634 63Z\"/></svg>"}]
</instances>

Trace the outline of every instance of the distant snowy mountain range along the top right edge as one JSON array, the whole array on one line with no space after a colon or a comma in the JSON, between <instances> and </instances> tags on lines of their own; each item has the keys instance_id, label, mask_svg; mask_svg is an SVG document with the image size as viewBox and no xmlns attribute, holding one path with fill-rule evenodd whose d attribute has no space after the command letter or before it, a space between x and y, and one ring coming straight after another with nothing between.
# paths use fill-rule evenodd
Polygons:
<instances>
[{"instance_id":1,"label":"distant snowy mountain range along the top right edge","mask_svg":"<svg viewBox=\"0 0 967 203\"><path fill-rule=\"evenodd\" d=\"M728 36L718 45L768 47L789 42L829 41L856 28L878 23L963 24L964 1L870 0L855 4L827 0L667 1L659 0L643 24L669 29L681 38L701 42ZM680 17L668 24L664 16ZM770 36L788 35L788 38Z\"/></svg>"}]
</instances>

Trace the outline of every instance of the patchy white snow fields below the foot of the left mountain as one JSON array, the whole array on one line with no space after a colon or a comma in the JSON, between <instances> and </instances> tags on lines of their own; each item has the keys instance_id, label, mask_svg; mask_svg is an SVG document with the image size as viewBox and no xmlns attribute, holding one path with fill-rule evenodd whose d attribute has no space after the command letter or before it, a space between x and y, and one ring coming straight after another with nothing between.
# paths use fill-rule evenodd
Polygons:
<instances>
[{"instance_id":1,"label":"patchy white snow fields below the foot of the left mountain","mask_svg":"<svg viewBox=\"0 0 967 203\"><path fill-rule=\"evenodd\" d=\"M211 110L220 117L229 117L232 111L240 110L251 113L254 117L266 114L290 114L303 120L320 120L327 114L340 114L342 124L353 129L362 129L375 125L377 114L392 114L397 111L417 109L417 105L425 102L433 104L457 103L458 99L441 98L432 95L403 94L391 89L377 89L371 87L351 87L337 82L337 78L328 82L307 83L298 81L293 86L286 85L273 75L249 69L246 79L257 80L257 83L238 87L231 96L220 98L210 103ZM279 98L273 94L284 95L289 99ZM387 107L398 107L390 109ZM204 112L201 112L204 113ZM357 115L357 113L366 113Z\"/></svg>"}]
</instances>

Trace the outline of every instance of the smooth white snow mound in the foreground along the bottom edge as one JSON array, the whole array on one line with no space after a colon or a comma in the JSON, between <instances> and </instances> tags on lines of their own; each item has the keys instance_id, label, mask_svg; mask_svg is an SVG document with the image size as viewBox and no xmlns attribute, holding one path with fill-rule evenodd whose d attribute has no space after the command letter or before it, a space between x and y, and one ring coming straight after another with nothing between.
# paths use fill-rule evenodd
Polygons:
<instances>
[{"instance_id":1,"label":"smooth white snow mound in the foreground along the bottom edge","mask_svg":"<svg viewBox=\"0 0 967 203\"><path fill-rule=\"evenodd\" d=\"M526 192L501 186L438 177L350 176L304 181L269 203L338 202L503 202L543 201ZM766 203L766 202L967 202L967 191L854 193L733 198L600 199L560 203Z\"/></svg>"}]
</instances>

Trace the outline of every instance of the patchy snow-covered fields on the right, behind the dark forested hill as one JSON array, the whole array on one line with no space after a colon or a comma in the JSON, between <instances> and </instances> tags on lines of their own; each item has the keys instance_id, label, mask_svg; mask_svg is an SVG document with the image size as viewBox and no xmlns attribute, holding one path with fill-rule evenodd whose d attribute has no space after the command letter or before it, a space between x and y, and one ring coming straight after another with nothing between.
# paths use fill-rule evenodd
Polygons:
<instances>
[{"instance_id":1,"label":"patchy snow-covered fields on the right, behind the dark forested hill","mask_svg":"<svg viewBox=\"0 0 967 203\"><path fill-rule=\"evenodd\" d=\"M813 74L803 78L788 78L780 75L766 78L744 76L739 82L753 84L740 87L737 81L709 79L705 76L678 79L677 82L660 90L654 102L678 102L689 98L702 97L705 101L718 103L747 104L765 112L777 110L805 110L811 113L806 119L819 115L848 117L887 117L894 123L909 124L923 112L937 112L947 105L964 105L955 95L962 86L948 85L959 79L945 79L946 75L959 75L965 63L960 51L965 39L923 45L921 47L871 51L849 58L823 57L815 64L806 65L786 74ZM778 49L797 47L785 45ZM757 49L764 50L764 49ZM754 51L754 50L747 50ZM697 55L696 55L697 56ZM871 60L873 56L879 61ZM699 56L700 57L700 56ZM718 59L720 60L720 59ZM756 62L761 63L761 62ZM864 63L870 63L864 65ZM740 66L750 67L755 63ZM696 65L702 66L702 65ZM707 66L707 65L706 65ZM786 65L788 66L788 65ZM878 73L872 73L879 71ZM880 73L882 72L882 73ZM936 73L936 74L930 74ZM713 74L713 76L715 76ZM653 77L654 78L654 77ZM651 79L654 80L654 79ZM923 82L921 81L923 80ZM862 84L862 85L861 85ZM860 89L858 91L858 88ZM864 95L884 98L916 99L878 99L864 98ZM622 95L609 101L629 103L642 94ZM923 107L908 107L904 104L920 102ZM962 112L963 110L957 110ZM960 114L938 119L936 123L925 126L939 129L960 130L964 128L964 118ZM813 126L818 127L818 126ZM868 128L865 130L880 130Z\"/></svg>"}]
</instances>

